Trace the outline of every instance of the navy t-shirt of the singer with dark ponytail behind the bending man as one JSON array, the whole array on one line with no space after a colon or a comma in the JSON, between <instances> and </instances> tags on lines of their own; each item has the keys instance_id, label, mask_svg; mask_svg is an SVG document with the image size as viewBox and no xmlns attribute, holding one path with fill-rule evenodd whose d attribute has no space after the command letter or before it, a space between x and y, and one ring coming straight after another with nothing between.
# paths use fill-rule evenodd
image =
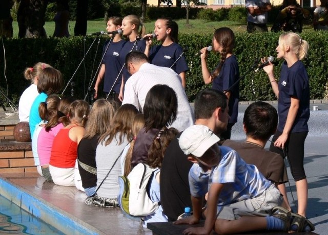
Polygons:
<instances>
[{"instance_id":1,"label":"navy t-shirt of the singer with dark ponytail behind the bending man","mask_svg":"<svg viewBox=\"0 0 328 235\"><path fill-rule=\"evenodd\" d=\"M168 46L154 45L149 52L150 63L157 66L171 67L172 64L180 57L183 49L175 42ZM182 55L172 66L175 73L180 74L189 70L186 58Z\"/></svg>"}]
</instances>

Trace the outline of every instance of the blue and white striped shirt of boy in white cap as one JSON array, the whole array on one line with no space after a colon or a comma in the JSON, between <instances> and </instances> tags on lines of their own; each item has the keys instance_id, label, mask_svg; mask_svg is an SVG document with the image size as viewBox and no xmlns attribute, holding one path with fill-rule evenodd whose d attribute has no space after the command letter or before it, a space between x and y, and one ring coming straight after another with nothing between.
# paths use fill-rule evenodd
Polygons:
<instances>
[{"instance_id":1,"label":"blue and white striped shirt of boy in white cap","mask_svg":"<svg viewBox=\"0 0 328 235\"><path fill-rule=\"evenodd\" d=\"M218 205L228 205L253 198L269 189L271 182L254 165L248 165L237 152L220 146L221 160L211 171L203 172L194 164L189 172L190 192L194 197L204 196L212 183L224 184Z\"/></svg>"}]
</instances>

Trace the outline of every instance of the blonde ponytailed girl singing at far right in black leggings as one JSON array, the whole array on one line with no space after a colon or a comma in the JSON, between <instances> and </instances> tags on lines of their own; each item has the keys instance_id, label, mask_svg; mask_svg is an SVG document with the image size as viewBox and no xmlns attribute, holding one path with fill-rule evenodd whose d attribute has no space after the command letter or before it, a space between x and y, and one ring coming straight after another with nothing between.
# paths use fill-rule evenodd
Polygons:
<instances>
[{"instance_id":1,"label":"blonde ponytailed girl singing at far right in black leggings","mask_svg":"<svg viewBox=\"0 0 328 235\"><path fill-rule=\"evenodd\" d=\"M270 151L288 156L296 183L298 211L306 216L308 181L304 172L304 142L308 135L310 117L310 86L308 73L301 60L308 54L309 44L298 34L289 32L279 37L276 48L278 59L285 61L277 81L273 64L263 67L268 74L272 89L278 98L279 124L273 136ZM283 151L282 151L283 150Z\"/></svg>"}]
</instances>

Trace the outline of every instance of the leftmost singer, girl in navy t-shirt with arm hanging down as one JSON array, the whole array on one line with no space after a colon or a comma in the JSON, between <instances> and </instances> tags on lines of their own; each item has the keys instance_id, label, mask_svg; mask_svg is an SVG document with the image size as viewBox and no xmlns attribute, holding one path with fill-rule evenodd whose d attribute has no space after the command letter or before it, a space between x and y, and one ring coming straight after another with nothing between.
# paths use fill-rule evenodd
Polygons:
<instances>
[{"instance_id":1,"label":"leftmost singer, girl in navy t-shirt with arm hanging down","mask_svg":"<svg viewBox=\"0 0 328 235\"><path fill-rule=\"evenodd\" d=\"M113 16L108 19L106 30L107 32L117 31L120 29L121 25L122 25L122 18L118 16ZM118 99L118 94L121 87L122 74L120 74L118 78L117 76L122 67L122 64L119 59L119 54L126 41L122 40L122 37L119 33L110 34L109 36L112 38L112 41L108 40L105 42L104 45L103 55L105 53L105 56L102 62L103 64L100 67L96 83L94 85L94 90L95 90L94 98L98 98L99 83L104 78L105 75L105 79L104 79L105 96L107 97L108 93L111 91L110 95L113 95L114 100L118 104L121 104L121 101ZM109 42L110 44L108 45ZM116 78L117 81L115 82ZM112 87L113 89L111 90Z\"/></svg>"}]
</instances>

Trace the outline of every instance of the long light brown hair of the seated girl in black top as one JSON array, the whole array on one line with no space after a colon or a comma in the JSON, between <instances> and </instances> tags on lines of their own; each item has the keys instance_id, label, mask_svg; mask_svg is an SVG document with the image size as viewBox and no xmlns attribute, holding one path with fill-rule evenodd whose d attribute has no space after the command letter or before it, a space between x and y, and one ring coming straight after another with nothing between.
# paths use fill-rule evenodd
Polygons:
<instances>
[{"instance_id":1,"label":"long light brown hair of the seated girl in black top","mask_svg":"<svg viewBox=\"0 0 328 235\"><path fill-rule=\"evenodd\" d=\"M115 113L114 106L105 99L96 100L90 110L84 138L91 139L109 131L110 122Z\"/></svg>"}]
</instances>

